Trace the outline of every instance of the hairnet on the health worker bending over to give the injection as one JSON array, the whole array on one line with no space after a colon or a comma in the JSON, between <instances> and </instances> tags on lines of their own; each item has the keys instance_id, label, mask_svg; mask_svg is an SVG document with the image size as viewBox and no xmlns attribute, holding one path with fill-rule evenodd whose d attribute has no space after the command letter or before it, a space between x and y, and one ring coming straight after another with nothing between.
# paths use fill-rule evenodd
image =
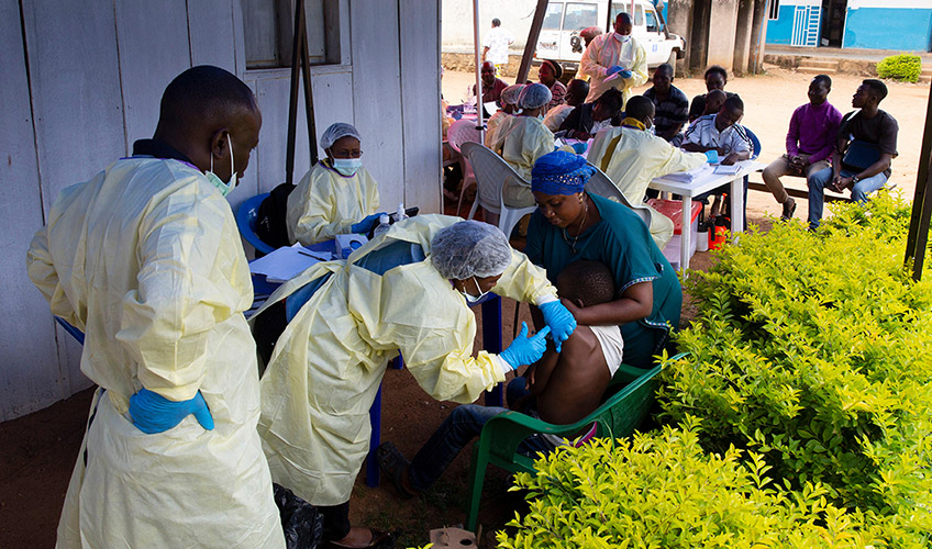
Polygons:
<instances>
[{"instance_id":1,"label":"hairnet on the health worker bending over to give the injection","mask_svg":"<svg viewBox=\"0 0 932 549\"><path fill-rule=\"evenodd\" d=\"M511 265L511 245L498 227L461 221L441 229L431 242L431 260L447 279L495 277Z\"/></svg>"}]
</instances>

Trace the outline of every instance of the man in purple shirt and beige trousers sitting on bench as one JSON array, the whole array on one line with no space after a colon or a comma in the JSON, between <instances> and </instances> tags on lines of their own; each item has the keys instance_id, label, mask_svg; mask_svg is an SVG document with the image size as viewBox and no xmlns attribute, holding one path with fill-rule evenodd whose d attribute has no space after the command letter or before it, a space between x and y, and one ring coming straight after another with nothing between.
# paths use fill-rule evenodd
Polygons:
<instances>
[{"instance_id":1,"label":"man in purple shirt and beige trousers sitting on bench","mask_svg":"<svg viewBox=\"0 0 932 549\"><path fill-rule=\"evenodd\" d=\"M786 221L796 212L796 201L787 194L781 176L806 177L829 167L842 113L829 103L832 79L819 75L809 85L809 103L792 112L787 132L787 153L764 169L764 183L784 210Z\"/></svg>"}]
</instances>

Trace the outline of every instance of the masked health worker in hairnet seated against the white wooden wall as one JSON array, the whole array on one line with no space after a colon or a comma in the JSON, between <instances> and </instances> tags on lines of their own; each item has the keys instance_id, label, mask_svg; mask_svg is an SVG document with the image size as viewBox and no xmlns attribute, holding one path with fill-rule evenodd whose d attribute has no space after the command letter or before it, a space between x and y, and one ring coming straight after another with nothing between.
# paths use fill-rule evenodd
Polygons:
<instances>
[{"instance_id":1,"label":"masked health worker in hairnet seated against the white wooden wall","mask_svg":"<svg viewBox=\"0 0 932 549\"><path fill-rule=\"evenodd\" d=\"M378 186L363 166L359 132L332 124L321 136L326 158L288 195L288 238L310 246L347 233L368 233L381 213Z\"/></svg>"}]
</instances>

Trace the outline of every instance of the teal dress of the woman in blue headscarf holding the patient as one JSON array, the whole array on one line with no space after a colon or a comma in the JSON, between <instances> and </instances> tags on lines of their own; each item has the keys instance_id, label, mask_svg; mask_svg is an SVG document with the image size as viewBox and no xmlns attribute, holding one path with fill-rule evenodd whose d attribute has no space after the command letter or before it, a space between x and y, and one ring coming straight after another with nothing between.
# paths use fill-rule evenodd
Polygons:
<instances>
[{"instance_id":1,"label":"teal dress of the woman in blue headscarf holding the patient","mask_svg":"<svg viewBox=\"0 0 932 549\"><path fill-rule=\"evenodd\" d=\"M615 294L633 284L651 281L654 285L654 309L651 315L621 325L624 339L624 363L650 368L653 356L661 352L670 328L679 327L683 309L683 289L669 261L651 238L647 226L628 206L602 197L589 194L599 209L601 220L587 228L574 242L563 228L552 225L537 210L528 226L528 246L524 254L535 265L556 277L569 262L578 259L604 264L614 277Z\"/></svg>"}]
</instances>

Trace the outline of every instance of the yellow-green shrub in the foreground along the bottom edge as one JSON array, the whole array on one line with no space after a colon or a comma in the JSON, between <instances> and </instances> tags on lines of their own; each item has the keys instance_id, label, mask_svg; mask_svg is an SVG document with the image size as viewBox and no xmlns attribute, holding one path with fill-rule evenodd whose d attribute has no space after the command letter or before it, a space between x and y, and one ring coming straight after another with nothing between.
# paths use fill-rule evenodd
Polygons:
<instances>
[{"instance_id":1,"label":"yellow-green shrub in the foreground along the bottom edge","mask_svg":"<svg viewBox=\"0 0 932 549\"><path fill-rule=\"evenodd\" d=\"M498 533L499 548L864 548L859 514L819 484L774 485L754 452L707 455L695 421L683 428L562 447L517 475L530 511ZM880 539L877 540L883 544Z\"/></svg>"}]
</instances>

